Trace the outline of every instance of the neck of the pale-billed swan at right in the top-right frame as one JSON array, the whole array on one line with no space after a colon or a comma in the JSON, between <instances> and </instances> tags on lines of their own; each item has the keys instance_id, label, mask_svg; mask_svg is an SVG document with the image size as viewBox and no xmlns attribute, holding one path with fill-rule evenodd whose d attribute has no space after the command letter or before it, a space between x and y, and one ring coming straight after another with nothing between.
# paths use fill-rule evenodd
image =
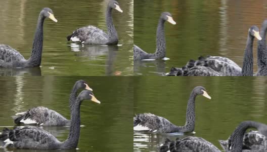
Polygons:
<instances>
[{"instance_id":1,"label":"neck of the pale-billed swan at right in the top-right frame","mask_svg":"<svg viewBox=\"0 0 267 152\"><path fill-rule=\"evenodd\" d=\"M248 33L242 66L242 76L253 76L253 41L254 37Z\"/></svg>"}]
</instances>

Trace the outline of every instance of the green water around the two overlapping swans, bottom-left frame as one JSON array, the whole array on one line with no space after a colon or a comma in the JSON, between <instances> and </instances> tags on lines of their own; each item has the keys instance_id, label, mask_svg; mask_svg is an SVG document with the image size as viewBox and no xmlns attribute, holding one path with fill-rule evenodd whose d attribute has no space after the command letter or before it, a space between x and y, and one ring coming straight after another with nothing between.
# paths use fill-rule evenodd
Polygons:
<instances>
[{"instance_id":1,"label":"green water around the two overlapping swans, bottom-left frame","mask_svg":"<svg viewBox=\"0 0 267 152\"><path fill-rule=\"evenodd\" d=\"M133 97L130 77L0 77L0 130L4 126L13 127L11 116L16 112L35 106L51 108L70 119L68 99L77 80L86 81L101 104L89 100L82 102L80 115L84 127L80 132L79 150L62 151L131 151ZM67 139L69 131L68 127L43 129L61 141ZM0 151L5 150L0 148Z\"/></svg>"}]
</instances>

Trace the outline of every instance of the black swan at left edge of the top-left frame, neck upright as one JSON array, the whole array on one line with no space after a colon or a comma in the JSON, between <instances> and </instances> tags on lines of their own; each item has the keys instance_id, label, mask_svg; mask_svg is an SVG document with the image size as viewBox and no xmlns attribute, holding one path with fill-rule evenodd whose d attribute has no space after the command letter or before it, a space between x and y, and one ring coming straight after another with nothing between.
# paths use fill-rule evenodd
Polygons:
<instances>
[{"instance_id":1,"label":"black swan at left edge of the top-left frame, neck upright","mask_svg":"<svg viewBox=\"0 0 267 152\"><path fill-rule=\"evenodd\" d=\"M8 45L0 45L0 67L16 68L40 66L43 41L43 22L47 17L57 22L57 19L54 17L51 9L42 9L37 21L30 58L26 60L17 50Z\"/></svg>"}]
</instances>

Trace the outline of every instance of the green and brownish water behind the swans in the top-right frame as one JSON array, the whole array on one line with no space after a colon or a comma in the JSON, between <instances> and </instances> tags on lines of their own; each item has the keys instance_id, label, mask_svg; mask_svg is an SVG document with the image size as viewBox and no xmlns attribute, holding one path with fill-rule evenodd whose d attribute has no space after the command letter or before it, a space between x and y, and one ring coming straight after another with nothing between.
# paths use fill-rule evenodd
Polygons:
<instances>
[{"instance_id":1,"label":"green and brownish water behind the swans in the top-right frame","mask_svg":"<svg viewBox=\"0 0 267 152\"><path fill-rule=\"evenodd\" d=\"M182 67L199 56L226 56L242 66L248 29L261 27L267 1L135 1L135 45L154 53L156 28L162 12L170 12L176 25L165 23L167 61L135 62L135 75L159 75ZM256 66L254 41L254 71Z\"/></svg>"}]
</instances>

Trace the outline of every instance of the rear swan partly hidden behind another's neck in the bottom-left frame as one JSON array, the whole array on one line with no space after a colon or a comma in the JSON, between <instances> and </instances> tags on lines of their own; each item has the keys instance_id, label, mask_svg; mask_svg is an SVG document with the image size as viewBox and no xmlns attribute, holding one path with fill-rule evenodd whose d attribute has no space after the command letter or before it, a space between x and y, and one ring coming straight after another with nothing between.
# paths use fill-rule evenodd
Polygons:
<instances>
[{"instance_id":1,"label":"rear swan partly hidden behind another's neck in the bottom-left frame","mask_svg":"<svg viewBox=\"0 0 267 152\"><path fill-rule=\"evenodd\" d=\"M77 81L73 86L69 98L69 106L71 109L75 103L77 91L79 89L93 91L85 81ZM31 108L30 110L25 112L16 113L16 116L13 116L13 119L15 124L39 126L69 126L71 123L70 120L67 120L58 112L42 106Z\"/></svg>"}]
</instances>

